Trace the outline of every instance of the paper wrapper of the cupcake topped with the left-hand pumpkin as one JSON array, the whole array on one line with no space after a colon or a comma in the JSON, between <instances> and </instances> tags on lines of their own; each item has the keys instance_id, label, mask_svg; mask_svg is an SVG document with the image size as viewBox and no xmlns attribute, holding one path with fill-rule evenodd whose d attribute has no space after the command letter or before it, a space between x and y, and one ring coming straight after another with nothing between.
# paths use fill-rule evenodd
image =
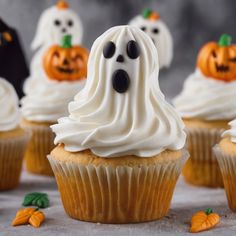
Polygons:
<instances>
[{"instance_id":1,"label":"paper wrapper of the cupcake topped with the left-hand pumpkin","mask_svg":"<svg viewBox=\"0 0 236 236\"><path fill-rule=\"evenodd\" d=\"M47 155L55 147L54 133L49 126L22 125L32 133L31 140L25 153L26 169L34 174L53 176Z\"/></svg>"}]
</instances>

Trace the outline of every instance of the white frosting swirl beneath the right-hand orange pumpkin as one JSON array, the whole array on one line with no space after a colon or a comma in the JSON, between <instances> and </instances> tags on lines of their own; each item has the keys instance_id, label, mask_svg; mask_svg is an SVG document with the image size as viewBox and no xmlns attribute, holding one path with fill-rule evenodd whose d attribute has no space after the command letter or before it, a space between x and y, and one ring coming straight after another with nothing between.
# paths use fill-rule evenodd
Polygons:
<instances>
[{"instance_id":1,"label":"white frosting swirl beneath the right-hand orange pumpkin","mask_svg":"<svg viewBox=\"0 0 236 236\"><path fill-rule=\"evenodd\" d=\"M235 100L236 82L206 78L196 70L173 103L184 118L231 120L236 117Z\"/></svg>"}]
</instances>

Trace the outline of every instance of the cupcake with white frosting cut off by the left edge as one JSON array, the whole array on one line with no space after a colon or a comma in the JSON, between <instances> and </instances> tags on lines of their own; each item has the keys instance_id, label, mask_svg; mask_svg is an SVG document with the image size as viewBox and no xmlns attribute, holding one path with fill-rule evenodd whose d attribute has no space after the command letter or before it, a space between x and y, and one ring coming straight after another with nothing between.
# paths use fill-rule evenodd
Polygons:
<instances>
[{"instance_id":1,"label":"cupcake with white frosting cut off by the left edge","mask_svg":"<svg viewBox=\"0 0 236 236\"><path fill-rule=\"evenodd\" d=\"M0 78L0 190L19 184L29 133L19 126L18 97L13 86Z\"/></svg>"}]
</instances>

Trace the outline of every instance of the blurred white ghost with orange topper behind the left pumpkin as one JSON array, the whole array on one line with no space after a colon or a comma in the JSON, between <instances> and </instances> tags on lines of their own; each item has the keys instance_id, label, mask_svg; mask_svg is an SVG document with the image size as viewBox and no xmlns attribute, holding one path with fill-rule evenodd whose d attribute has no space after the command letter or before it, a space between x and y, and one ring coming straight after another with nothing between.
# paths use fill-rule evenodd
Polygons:
<instances>
[{"instance_id":1,"label":"blurred white ghost with orange topper behind the left pumpkin","mask_svg":"<svg viewBox=\"0 0 236 236\"><path fill-rule=\"evenodd\" d=\"M31 62L31 74L42 72L42 57L53 44L60 44L65 35L72 36L72 44L81 44L83 27L79 15L69 5L59 0L55 6L46 9L40 16L31 48L39 49Z\"/></svg>"}]
</instances>

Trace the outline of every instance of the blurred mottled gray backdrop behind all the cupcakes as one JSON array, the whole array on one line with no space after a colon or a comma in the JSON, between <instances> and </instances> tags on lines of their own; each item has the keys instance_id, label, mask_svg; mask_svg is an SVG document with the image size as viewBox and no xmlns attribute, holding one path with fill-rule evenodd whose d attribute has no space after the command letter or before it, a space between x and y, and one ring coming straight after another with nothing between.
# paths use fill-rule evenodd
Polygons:
<instances>
[{"instance_id":1,"label":"blurred mottled gray backdrop behind all the cupcakes","mask_svg":"<svg viewBox=\"0 0 236 236\"><path fill-rule=\"evenodd\" d=\"M144 7L159 11L174 37L175 55L169 70L160 74L161 88L172 97L194 69L197 52L208 40L218 40L221 33L236 39L235 0L68 0L83 21L84 44L90 48L94 39L111 26L126 24ZM24 43L28 61L30 43L43 9L56 0L0 0L0 16L15 26ZM235 40L236 41L236 40Z\"/></svg>"}]
</instances>

